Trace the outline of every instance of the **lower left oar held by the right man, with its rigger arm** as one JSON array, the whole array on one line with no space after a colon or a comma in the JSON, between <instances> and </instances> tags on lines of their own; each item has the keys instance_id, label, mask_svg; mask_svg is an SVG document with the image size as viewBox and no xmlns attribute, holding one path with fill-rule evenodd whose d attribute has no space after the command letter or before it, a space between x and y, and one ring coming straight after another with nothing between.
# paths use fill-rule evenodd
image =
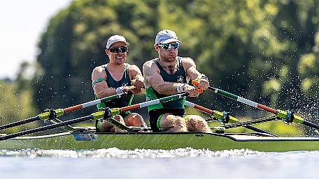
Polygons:
<instances>
[{"instance_id":1,"label":"lower left oar held by the right man, with its rigger arm","mask_svg":"<svg viewBox=\"0 0 319 179\"><path fill-rule=\"evenodd\" d=\"M188 93L180 93L180 94L176 94L176 95L170 95L164 98L160 98L157 100L150 100L147 102L141 102L139 104L133 104L130 105L128 107L121 107L121 108L113 108L113 109L109 109L106 108L105 111L98 111L96 113L91 114L90 116L84 116L82 118L76 118L76 119L71 119L71 120L66 120L62 123L56 123L56 124L52 124L52 125L46 125L44 127L38 127L32 130L25 130L22 132L17 132L14 134L8 134L6 136L0 137L0 141L6 140L6 139L12 139L15 137L21 137L27 134L34 134L36 132L42 132L45 130L51 130L57 127L62 127L65 125L71 125L71 124L75 124L75 123L81 123L84 122L86 120L100 120L100 119L104 119L104 120L108 120L111 123L113 123L114 125L116 125L117 127L125 127L125 130L148 130L147 127L127 127L126 125L123 125L122 123L118 122L117 120L113 119L113 116L120 114L121 112L125 112L125 111L129 111L129 110L133 110L133 109L140 109L143 107L149 107L151 105L154 104L160 104L162 102L168 102L171 100L177 100L180 98L183 98L185 96L187 96Z\"/></svg>"}]
</instances>

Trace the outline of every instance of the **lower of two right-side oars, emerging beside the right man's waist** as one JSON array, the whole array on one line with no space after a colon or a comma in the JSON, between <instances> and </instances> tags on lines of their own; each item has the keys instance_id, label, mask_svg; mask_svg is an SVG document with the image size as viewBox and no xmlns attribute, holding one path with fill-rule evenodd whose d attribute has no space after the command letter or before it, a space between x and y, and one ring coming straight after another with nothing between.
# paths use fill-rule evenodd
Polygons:
<instances>
[{"instance_id":1,"label":"lower of two right-side oars, emerging beside the right man's waist","mask_svg":"<svg viewBox=\"0 0 319 179\"><path fill-rule=\"evenodd\" d=\"M199 106L198 104L194 104L194 103L186 101L186 100L185 100L185 105L188 107L192 107L194 109L198 109L199 111L203 111L206 114L211 114L211 116L213 118L216 118L220 123L235 123L235 124L239 123L239 119L234 118L233 116L230 116L225 111L220 112L220 111L211 110L211 109ZM251 125L241 125L241 127L246 127L247 129L253 130L255 132L262 132L262 133L271 134L270 132L267 132L265 130L261 130L261 129L259 129L257 127L253 127ZM271 134L271 135L274 135L274 134Z\"/></svg>"}]
</instances>

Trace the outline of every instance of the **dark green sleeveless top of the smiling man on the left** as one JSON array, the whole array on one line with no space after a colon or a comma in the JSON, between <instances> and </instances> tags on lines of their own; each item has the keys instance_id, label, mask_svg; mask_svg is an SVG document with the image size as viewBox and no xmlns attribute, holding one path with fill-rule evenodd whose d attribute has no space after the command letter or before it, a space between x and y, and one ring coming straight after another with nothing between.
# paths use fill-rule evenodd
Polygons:
<instances>
[{"instance_id":1,"label":"dark green sleeveless top of the smiling man on the left","mask_svg":"<svg viewBox=\"0 0 319 179\"><path fill-rule=\"evenodd\" d=\"M106 65L102 65L102 67L106 71L106 75L107 75L106 84L108 84L109 88L118 88L120 86L131 86L131 79L129 79L129 65L125 64L123 77L122 79L120 79L120 81L115 81L115 79L113 79ZM95 95L95 99L98 99L97 95ZM111 109L119 108L119 107L127 107L131 105L132 100L133 100L133 95L123 96L120 99L115 99L108 102L101 102L97 104L97 109L101 110L102 108L105 108L105 107L109 107Z\"/></svg>"}]
</instances>

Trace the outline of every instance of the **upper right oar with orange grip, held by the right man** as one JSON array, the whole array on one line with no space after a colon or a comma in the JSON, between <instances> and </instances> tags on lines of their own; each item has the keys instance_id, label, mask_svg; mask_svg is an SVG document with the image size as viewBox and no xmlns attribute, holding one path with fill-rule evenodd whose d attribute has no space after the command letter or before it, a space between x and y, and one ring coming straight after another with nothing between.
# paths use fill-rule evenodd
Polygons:
<instances>
[{"instance_id":1,"label":"upper right oar with orange grip, held by the right man","mask_svg":"<svg viewBox=\"0 0 319 179\"><path fill-rule=\"evenodd\" d=\"M193 80L192 84L194 86L198 86L199 83L198 83L198 81L194 81ZM222 95L222 96L225 96L225 97L230 98L232 100L236 100L236 101L242 102L244 104L248 104L251 107L256 107L258 109L262 109L264 111L271 112L272 114L275 114L278 118L281 118L283 120L283 122L285 122L285 123L292 123L292 122L299 123L299 124L303 124L303 125L306 125L306 126L309 126L309 127L313 127L313 128L316 128L316 129L319 130L319 125L304 120L304 118L295 115L292 111L289 111L289 110L282 111L280 109L276 110L276 109L273 109L271 107L267 107L267 106L264 106L262 104L258 104L257 102L253 102L253 101L248 100L246 98L241 98L238 95L234 95L232 93L228 93L227 91L222 91L222 90L220 90L218 88L213 88L211 86L208 86L208 89L211 90L211 91L214 91L218 95Z\"/></svg>"}]
</instances>

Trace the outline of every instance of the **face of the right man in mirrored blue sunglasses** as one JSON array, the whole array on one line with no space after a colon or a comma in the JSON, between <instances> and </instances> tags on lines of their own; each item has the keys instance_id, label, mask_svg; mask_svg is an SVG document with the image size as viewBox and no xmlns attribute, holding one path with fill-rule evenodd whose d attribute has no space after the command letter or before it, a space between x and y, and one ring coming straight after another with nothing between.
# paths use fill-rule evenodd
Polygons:
<instances>
[{"instance_id":1,"label":"face of the right man in mirrored blue sunglasses","mask_svg":"<svg viewBox=\"0 0 319 179\"><path fill-rule=\"evenodd\" d=\"M164 61L175 61L176 56L178 55L178 48L173 48L172 45L170 44L175 44L176 42L171 42L168 44L165 44L166 47L169 47L169 49L167 49L166 47L161 47L161 45L154 45L155 50L158 52L158 55L160 56L161 59L163 59Z\"/></svg>"}]
</instances>

